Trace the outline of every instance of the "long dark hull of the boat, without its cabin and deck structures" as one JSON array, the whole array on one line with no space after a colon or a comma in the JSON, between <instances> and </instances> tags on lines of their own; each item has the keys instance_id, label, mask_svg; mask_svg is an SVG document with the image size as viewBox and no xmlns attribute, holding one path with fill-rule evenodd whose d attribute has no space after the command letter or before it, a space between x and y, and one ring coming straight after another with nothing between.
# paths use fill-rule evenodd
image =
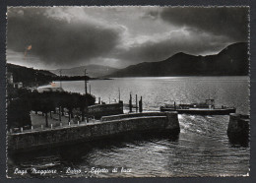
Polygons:
<instances>
[{"instance_id":1,"label":"long dark hull of the boat, without its cabin and deck structures","mask_svg":"<svg viewBox=\"0 0 256 183\"><path fill-rule=\"evenodd\" d=\"M224 109L174 109L167 107L160 107L161 112L165 111L177 111L179 114L195 114L195 115L228 115L229 113L235 113L235 108Z\"/></svg>"}]
</instances>

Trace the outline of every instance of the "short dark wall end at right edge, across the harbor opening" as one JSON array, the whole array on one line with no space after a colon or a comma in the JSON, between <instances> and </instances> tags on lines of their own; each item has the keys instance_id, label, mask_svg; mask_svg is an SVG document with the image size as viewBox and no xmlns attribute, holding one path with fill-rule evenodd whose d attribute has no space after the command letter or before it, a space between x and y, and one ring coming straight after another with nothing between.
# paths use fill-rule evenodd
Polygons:
<instances>
[{"instance_id":1,"label":"short dark wall end at right edge, across the harbor opening","mask_svg":"<svg viewBox=\"0 0 256 183\"><path fill-rule=\"evenodd\" d=\"M249 115L229 114L227 136L231 143L247 143L249 138Z\"/></svg>"}]
</instances>

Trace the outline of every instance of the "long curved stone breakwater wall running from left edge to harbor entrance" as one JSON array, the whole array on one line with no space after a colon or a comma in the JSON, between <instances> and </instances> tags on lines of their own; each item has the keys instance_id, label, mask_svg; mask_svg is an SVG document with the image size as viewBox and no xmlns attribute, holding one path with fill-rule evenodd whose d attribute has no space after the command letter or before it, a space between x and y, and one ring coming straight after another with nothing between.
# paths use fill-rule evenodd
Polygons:
<instances>
[{"instance_id":1,"label":"long curved stone breakwater wall running from left edge to harbor entrance","mask_svg":"<svg viewBox=\"0 0 256 183\"><path fill-rule=\"evenodd\" d=\"M95 123L13 133L8 134L7 138L9 151L24 152L104 139L125 133L167 132L174 135L179 131L177 112L152 112L102 117L102 120Z\"/></svg>"}]
</instances>

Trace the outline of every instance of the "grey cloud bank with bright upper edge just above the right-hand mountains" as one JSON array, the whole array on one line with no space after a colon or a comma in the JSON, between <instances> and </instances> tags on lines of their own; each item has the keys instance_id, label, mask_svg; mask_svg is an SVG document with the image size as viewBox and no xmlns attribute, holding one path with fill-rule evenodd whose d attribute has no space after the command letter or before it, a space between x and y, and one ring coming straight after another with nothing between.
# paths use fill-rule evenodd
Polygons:
<instances>
[{"instance_id":1,"label":"grey cloud bank with bright upper edge just above the right-hand mountains","mask_svg":"<svg viewBox=\"0 0 256 183\"><path fill-rule=\"evenodd\" d=\"M155 40L149 37L149 40L143 43L134 43L129 49L117 52L115 56L126 60L129 65L129 63L164 60L177 52L193 55L216 54L225 46L233 43L225 36L198 32L193 29L177 30L158 36L155 35Z\"/></svg>"}]
</instances>

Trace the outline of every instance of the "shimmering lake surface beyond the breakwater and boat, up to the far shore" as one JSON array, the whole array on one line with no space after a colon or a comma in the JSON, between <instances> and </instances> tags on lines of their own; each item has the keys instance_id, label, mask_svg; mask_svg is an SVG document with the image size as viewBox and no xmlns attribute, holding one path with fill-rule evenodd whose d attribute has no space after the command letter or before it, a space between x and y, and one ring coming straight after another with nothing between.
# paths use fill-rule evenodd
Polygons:
<instances>
[{"instance_id":1,"label":"shimmering lake surface beyond the breakwater and boat, up to the far shore","mask_svg":"<svg viewBox=\"0 0 256 183\"><path fill-rule=\"evenodd\" d=\"M56 82L58 86L59 83ZM65 91L85 92L85 83L62 82ZM238 112L248 112L249 79L248 77L157 77L157 78L120 78L113 80L90 81L92 93L105 102L118 99L129 101L129 94L143 96L146 110L159 110L160 105L176 101L191 103L205 101L211 97L216 105L236 106Z\"/></svg>"}]
</instances>

